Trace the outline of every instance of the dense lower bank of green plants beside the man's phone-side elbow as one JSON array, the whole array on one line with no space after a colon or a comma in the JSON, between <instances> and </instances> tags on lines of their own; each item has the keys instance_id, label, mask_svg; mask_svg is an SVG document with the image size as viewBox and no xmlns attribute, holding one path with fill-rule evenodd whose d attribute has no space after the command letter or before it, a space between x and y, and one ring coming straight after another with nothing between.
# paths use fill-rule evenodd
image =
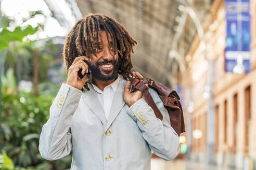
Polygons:
<instances>
[{"instance_id":1,"label":"dense lower bank of green plants beside the man's phone-side elbow","mask_svg":"<svg viewBox=\"0 0 256 170\"><path fill-rule=\"evenodd\" d=\"M8 69L2 78L2 150L12 159L15 169L66 169L71 165L71 155L57 161L44 160L38 150L42 126L49 117L49 107L55 92L40 89L39 97L33 93L17 91L13 70ZM48 83L49 84L49 83ZM55 87L59 85L51 84Z\"/></svg>"}]
</instances>

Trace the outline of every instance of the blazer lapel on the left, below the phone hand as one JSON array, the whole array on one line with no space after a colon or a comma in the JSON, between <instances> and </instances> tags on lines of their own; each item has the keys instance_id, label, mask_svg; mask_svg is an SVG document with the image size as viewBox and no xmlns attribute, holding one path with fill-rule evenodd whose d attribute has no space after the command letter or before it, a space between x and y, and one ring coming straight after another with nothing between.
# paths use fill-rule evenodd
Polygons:
<instances>
[{"instance_id":1,"label":"blazer lapel on the left, below the phone hand","mask_svg":"<svg viewBox=\"0 0 256 170\"><path fill-rule=\"evenodd\" d=\"M92 84L88 83L88 85L90 90L83 93L84 103L93 110L94 114L105 126L107 124L107 119L105 117L103 108L101 107L98 96L93 89Z\"/></svg>"}]
</instances>

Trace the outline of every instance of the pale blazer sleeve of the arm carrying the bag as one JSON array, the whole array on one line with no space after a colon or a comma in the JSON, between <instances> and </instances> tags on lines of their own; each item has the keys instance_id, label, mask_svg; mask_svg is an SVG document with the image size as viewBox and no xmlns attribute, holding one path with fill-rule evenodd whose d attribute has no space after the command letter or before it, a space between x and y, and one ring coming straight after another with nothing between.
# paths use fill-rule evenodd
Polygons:
<instances>
[{"instance_id":1,"label":"pale blazer sleeve of the arm carrying the bag","mask_svg":"<svg viewBox=\"0 0 256 170\"><path fill-rule=\"evenodd\" d=\"M144 97L135 102L126 112L137 122L149 148L164 160L172 160L178 154L179 136L172 128L168 111L157 92L151 88L149 92L163 115L162 121L156 117Z\"/></svg>"}]
</instances>

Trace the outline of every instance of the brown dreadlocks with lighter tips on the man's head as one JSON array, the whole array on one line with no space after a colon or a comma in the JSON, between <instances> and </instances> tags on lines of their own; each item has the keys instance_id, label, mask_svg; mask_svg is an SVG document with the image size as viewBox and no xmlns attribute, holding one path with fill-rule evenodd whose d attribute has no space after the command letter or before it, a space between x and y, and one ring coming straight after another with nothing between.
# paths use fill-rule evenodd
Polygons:
<instances>
[{"instance_id":1,"label":"brown dreadlocks with lighter tips on the man's head","mask_svg":"<svg viewBox=\"0 0 256 170\"><path fill-rule=\"evenodd\" d=\"M99 13L89 13L74 25L68 34L63 47L63 60L66 64L66 72L72 62L79 55L91 57L96 56L93 49L99 46L99 39L102 42L101 31L105 31L109 41L109 35L113 42L114 51L118 50L120 68L118 72L124 78L128 78L133 68L131 52L137 41L125 30L124 26L115 19ZM117 49L116 49L117 48ZM84 88L89 90L87 83ZM82 89L83 91L83 89Z\"/></svg>"}]
</instances>

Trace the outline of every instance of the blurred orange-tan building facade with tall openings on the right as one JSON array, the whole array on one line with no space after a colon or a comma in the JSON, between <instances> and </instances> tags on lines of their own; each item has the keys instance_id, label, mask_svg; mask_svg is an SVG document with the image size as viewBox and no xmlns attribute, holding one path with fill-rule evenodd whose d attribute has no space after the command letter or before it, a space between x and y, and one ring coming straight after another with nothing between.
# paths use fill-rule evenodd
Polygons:
<instances>
[{"instance_id":1,"label":"blurred orange-tan building facade with tall openings on the right","mask_svg":"<svg viewBox=\"0 0 256 170\"><path fill-rule=\"evenodd\" d=\"M212 3L208 22L203 23L206 54L196 36L185 57L186 70L180 73L184 87L184 110L187 120L190 158L207 161L209 134L214 136L213 162L221 166L242 168L254 162L256 169L256 1L250 1L251 12L251 72L225 72L225 3ZM214 76L209 76L209 60L213 61ZM185 79L185 80L184 80ZM209 79L213 80L209 93ZM209 130L209 95L214 101L214 129ZM211 113L212 114L212 113ZM190 121L190 122L189 122ZM191 129L189 129L191 127ZM210 127L211 128L211 127ZM195 137L195 130L200 130ZM194 133L193 136L188 133Z\"/></svg>"}]
</instances>

